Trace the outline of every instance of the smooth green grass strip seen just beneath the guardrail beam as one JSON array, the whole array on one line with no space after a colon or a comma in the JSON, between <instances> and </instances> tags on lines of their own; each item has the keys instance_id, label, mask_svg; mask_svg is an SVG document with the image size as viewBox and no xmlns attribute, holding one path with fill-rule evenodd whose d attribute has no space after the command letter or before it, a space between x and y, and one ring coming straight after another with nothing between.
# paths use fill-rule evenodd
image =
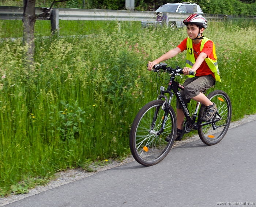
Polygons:
<instances>
[{"instance_id":1,"label":"smooth green grass strip seen just beneath the guardrail beam","mask_svg":"<svg viewBox=\"0 0 256 207\"><path fill-rule=\"evenodd\" d=\"M2 38L18 38L23 36L22 20L0 20L1 37ZM120 24L116 21L72 21L60 20L59 31L61 36L67 35L91 35L101 34L104 31L106 34L111 34L113 28L126 31L128 33L136 33L141 30L140 22L121 21ZM50 36L51 28L50 21L36 21L35 35Z\"/></svg>"}]
</instances>

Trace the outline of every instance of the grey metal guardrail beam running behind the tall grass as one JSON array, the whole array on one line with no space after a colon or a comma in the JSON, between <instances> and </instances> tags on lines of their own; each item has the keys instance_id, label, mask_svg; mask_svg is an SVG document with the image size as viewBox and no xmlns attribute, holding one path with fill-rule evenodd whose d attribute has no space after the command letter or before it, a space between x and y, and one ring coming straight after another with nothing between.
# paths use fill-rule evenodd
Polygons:
<instances>
[{"instance_id":1,"label":"grey metal guardrail beam running behind the tall grass","mask_svg":"<svg viewBox=\"0 0 256 207\"><path fill-rule=\"evenodd\" d=\"M35 8L36 15L43 13L45 8ZM116 21L154 21L156 12L104 10L104 9L70 9L53 8L59 10L60 20L116 20ZM21 20L23 7L0 6L0 19ZM190 13L168 13L169 21L184 20ZM205 14L204 14L205 15ZM205 15L208 19L220 19L225 15ZM50 18L49 18L50 19ZM49 20L44 19L44 20ZM39 19L42 20L42 19Z\"/></svg>"}]
</instances>

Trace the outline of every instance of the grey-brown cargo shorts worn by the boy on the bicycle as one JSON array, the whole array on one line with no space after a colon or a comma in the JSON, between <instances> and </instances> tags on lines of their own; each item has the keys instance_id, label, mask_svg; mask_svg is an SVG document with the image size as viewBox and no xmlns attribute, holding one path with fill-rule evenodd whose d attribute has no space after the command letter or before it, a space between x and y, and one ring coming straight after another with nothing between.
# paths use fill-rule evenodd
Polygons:
<instances>
[{"instance_id":1,"label":"grey-brown cargo shorts worn by the boy on the bicycle","mask_svg":"<svg viewBox=\"0 0 256 207\"><path fill-rule=\"evenodd\" d=\"M187 78L183 83L184 90L180 90L181 97L185 104L190 102L191 98L200 94L200 92L210 89L214 86L215 78L212 75L195 76ZM178 100L176 99L176 108L181 109Z\"/></svg>"}]
</instances>

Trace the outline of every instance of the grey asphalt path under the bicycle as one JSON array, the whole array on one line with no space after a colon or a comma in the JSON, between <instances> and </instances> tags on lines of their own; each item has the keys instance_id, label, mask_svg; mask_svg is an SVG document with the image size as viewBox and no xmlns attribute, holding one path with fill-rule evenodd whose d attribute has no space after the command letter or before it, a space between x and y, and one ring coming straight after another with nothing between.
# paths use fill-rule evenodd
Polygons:
<instances>
[{"instance_id":1,"label":"grey asphalt path under the bicycle","mask_svg":"<svg viewBox=\"0 0 256 207\"><path fill-rule=\"evenodd\" d=\"M256 203L256 121L229 129L217 145L197 140L172 149L157 165L133 161L5 207L209 207L216 202Z\"/></svg>"}]
</instances>

